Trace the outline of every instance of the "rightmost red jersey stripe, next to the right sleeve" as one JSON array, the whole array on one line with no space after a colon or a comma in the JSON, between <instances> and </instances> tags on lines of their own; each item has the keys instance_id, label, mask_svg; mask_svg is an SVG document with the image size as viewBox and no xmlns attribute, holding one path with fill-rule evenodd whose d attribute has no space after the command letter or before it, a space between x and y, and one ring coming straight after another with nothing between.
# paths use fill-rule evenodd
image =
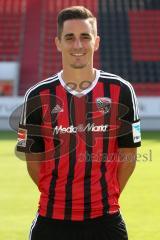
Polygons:
<instances>
[{"instance_id":1,"label":"rightmost red jersey stripe, next to the right sleeve","mask_svg":"<svg viewBox=\"0 0 160 240\"><path fill-rule=\"evenodd\" d=\"M118 114L118 103L119 103L119 95L120 95L120 87L114 84L110 84L110 97L112 99L112 106L111 106L111 118L110 123L116 125L116 118ZM112 129L111 126L111 129ZM114 126L113 126L114 128ZM110 130L109 132L109 143L108 143L108 153L114 154L114 160L111 159L111 155L109 155L109 159L106 162L107 164L107 172L106 172L106 181L108 185L108 195L109 195L109 206L110 212L116 211L119 208L118 205L118 197L119 197L119 186L117 181L117 138L116 132Z\"/></svg>"}]
</instances>

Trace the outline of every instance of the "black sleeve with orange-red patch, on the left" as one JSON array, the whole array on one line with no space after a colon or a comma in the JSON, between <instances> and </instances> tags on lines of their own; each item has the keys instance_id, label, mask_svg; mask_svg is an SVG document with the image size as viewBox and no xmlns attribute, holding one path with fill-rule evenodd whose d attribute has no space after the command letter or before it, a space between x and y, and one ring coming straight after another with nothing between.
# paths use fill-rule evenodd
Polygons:
<instances>
[{"instance_id":1,"label":"black sleeve with orange-red patch, on the left","mask_svg":"<svg viewBox=\"0 0 160 240\"><path fill-rule=\"evenodd\" d=\"M42 109L38 94L27 92L24 97L18 128L17 151L25 153L44 152L41 134Z\"/></svg>"}]
</instances>

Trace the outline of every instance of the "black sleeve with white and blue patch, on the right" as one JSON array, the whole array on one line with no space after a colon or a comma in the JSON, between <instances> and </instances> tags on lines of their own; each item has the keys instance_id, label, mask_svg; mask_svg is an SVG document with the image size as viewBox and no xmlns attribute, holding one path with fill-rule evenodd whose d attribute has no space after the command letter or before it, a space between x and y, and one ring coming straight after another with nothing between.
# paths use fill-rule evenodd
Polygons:
<instances>
[{"instance_id":1,"label":"black sleeve with white and blue patch, on the right","mask_svg":"<svg viewBox=\"0 0 160 240\"><path fill-rule=\"evenodd\" d=\"M125 81L120 92L118 147L141 146L138 102L132 85Z\"/></svg>"}]
</instances>

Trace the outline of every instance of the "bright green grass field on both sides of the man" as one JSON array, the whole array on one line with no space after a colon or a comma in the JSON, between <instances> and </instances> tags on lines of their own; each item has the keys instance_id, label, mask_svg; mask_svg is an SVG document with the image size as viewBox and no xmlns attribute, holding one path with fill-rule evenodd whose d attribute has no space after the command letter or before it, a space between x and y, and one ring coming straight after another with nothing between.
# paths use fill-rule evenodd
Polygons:
<instances>
[{"instance_id":1,"label":"bright green grass field on both sides of the man","mask_svg":"<svg viewBox=\"0 0 160 240\"><path fill-rule=\"evenodd\" d=\"M144 132L136 170L121 198L129 240L160 239L160 132ZM27 240L39 193L24 161L16 158L16 135L0 132L0 239ZM114 239L113 239L114 240Z\"/></svg>"}]
</instances>

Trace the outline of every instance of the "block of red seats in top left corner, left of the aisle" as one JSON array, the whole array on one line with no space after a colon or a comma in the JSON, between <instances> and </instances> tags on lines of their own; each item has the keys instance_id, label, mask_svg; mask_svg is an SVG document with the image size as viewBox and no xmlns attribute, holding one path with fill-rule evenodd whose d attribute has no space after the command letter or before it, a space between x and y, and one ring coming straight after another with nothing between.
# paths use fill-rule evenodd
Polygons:
<instances>
[{"instance_id":1,"label":"block of red seats in top left corner, left of the aisle","mask_svg":"<svg viewBox=\"0 0 160 240\"><path fill-rule=\"evenodd\" d=\"M24 0L0 1L0 61L19 61L25 22Z\"/></svg>"}]
</instances>

